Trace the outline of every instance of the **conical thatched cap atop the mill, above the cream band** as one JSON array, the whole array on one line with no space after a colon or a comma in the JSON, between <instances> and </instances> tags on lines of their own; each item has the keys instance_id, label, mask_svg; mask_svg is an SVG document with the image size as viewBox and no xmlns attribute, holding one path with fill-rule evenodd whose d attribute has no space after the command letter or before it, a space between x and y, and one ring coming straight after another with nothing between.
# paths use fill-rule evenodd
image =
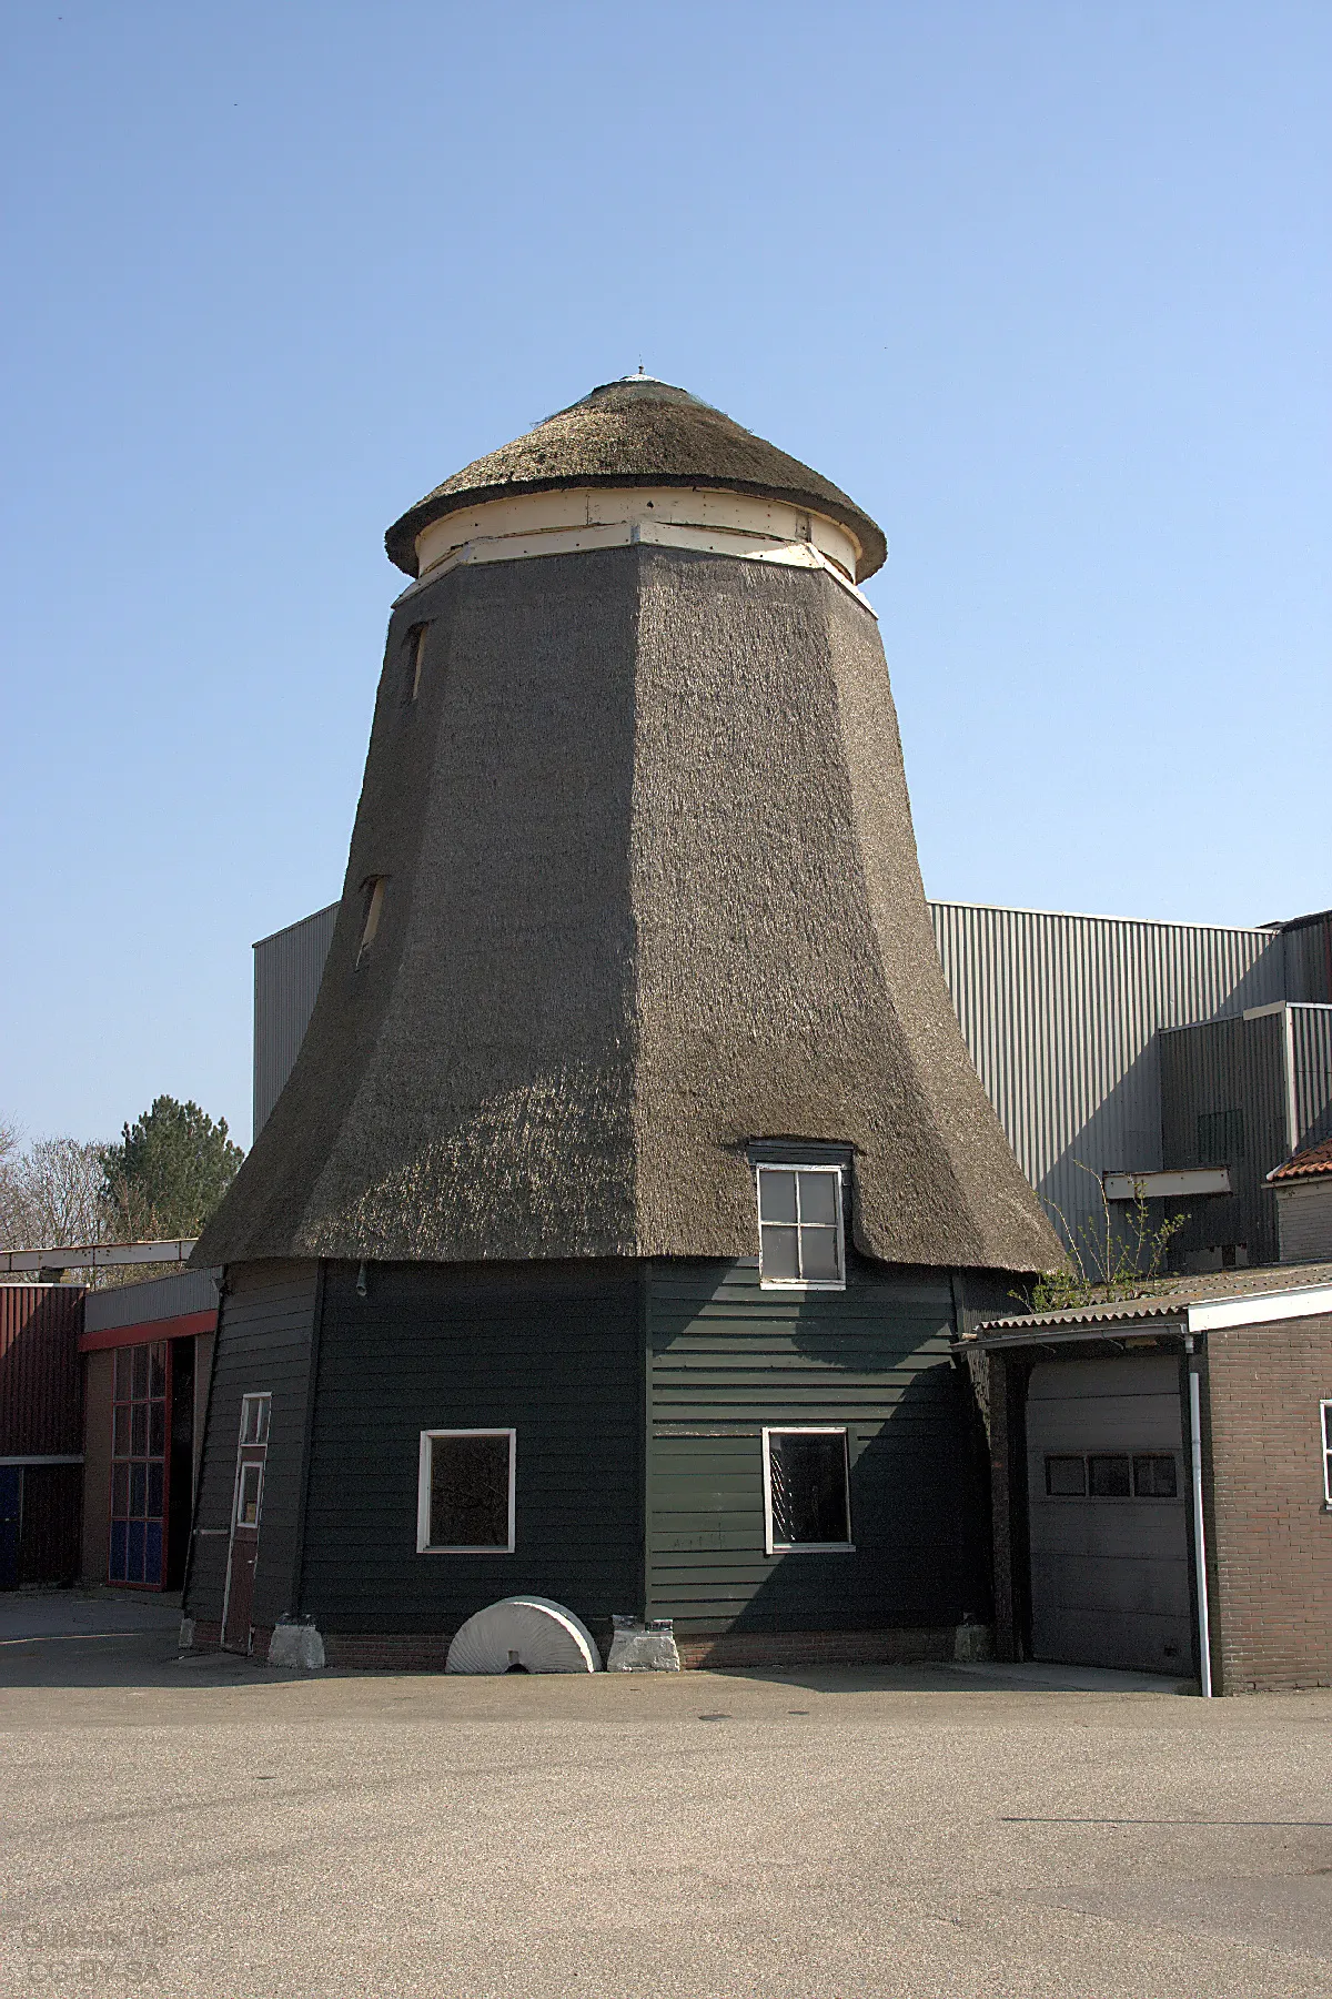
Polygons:
<instances>
[{"instance_id":1,"label":"conical thatched cap atop the mill, above the cream band","mask_svg":"<svg viewBox=\"0 0 1332 1999\"><path fill-rule=\"evenodd\" d=\"M856 582L888 556L884 532L830 480L742 430L720 410L654 376L604 382L524 438L454 472L384 536L392 562L416 576L416 536L446 514L562 486L714 486L812 508L860 544Z\"/></svg>"}]
</instances>

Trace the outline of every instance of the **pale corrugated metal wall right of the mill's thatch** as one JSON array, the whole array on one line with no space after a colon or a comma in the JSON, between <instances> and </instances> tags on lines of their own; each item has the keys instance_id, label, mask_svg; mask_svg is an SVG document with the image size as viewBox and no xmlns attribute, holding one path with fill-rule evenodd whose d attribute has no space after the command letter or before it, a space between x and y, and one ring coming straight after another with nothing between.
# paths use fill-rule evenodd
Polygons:
<instances>
[{"instance_id":1,"label":"pale corrugated metal wall right of the mill's thatch","mask_svg":"<svg viewBox=\"0 0 1332 1999\"><path fill-rule=\"evenodd\" d=\"M1162 1165L1160 1029L1284 998L1276 930L958 902L930 914L972 1061L1066 1231L1100 1225L1094 1175Z\"/></svg>"}]
</instances>

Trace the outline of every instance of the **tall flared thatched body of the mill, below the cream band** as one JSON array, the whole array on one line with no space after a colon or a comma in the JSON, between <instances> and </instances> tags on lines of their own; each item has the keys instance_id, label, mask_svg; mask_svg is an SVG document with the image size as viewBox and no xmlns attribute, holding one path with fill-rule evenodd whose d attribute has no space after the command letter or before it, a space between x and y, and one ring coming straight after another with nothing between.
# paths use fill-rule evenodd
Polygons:
<instances>
[{"instance_id":1,"label":"tall flared thatched body of the mill, below the cream band","mask_svg":"<svg viewBox=\"0 0 1332 1999\"><path fill-rule=\"evenodd\" d=\"M304 1045L196 1255L752 1255L764 1137L854 1147L874 1257L1060 1261L944 986L872 614L646 544L426 584Z\"/></svg>"}]
</instances>

